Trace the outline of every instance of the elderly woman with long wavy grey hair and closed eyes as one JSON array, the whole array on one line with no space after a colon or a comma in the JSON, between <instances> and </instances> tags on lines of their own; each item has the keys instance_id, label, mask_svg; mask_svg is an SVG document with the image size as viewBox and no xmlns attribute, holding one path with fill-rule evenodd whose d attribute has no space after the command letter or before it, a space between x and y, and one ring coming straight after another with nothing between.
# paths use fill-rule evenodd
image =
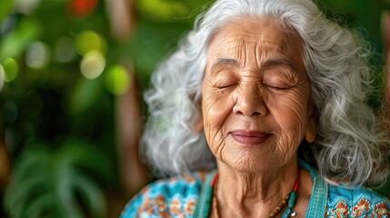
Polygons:
<instances>
[{"instance_id":1,"label":"elderly woman with long wavy grey hair and closed eyes","mask_svg":"<svg viewBox=\"0 0 390 218\"><path fill-rule=\"evenodd\" d=\"M311 0L217 0L156 71L122 217L389 217L365 42Z\"/></svg>"}]
</instances>

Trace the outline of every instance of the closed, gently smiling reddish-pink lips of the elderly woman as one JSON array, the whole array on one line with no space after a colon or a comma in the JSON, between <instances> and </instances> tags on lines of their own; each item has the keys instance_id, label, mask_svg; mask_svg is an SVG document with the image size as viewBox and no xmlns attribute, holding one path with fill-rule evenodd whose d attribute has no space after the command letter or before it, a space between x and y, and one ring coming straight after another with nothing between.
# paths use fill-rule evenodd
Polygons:
<instances>
[{"instance_id":1,"label":"closed, gently smiling reddish-pink lips of the elderly woman","mask_svg":"<svg viewBox=\"0 0 390 218\"><path fill-rule=\"evenodd\" d=\"M262 144L271 134L260 131L235 130L230 132L237 143L240 144Z\"/></svg>"}]
</instances>

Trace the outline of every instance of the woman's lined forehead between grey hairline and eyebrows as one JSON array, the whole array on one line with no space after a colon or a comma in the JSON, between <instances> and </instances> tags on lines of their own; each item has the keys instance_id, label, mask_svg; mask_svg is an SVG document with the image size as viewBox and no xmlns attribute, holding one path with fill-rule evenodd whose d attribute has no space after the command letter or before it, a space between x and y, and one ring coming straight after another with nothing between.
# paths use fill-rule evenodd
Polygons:
<instances>
[{"instance_id":1,"label":"woman's lined forehead between grey hairline and eyebrows","mask_svg":"<svg viewBox=\"0 0 390 218\"><path fill-rule=\"evenodd\" d=\"M302 59L303 54L301 39L293 28L265 17L235 18L228 22L214 35L207 53L235 55L245 50L271 51L291 59Z\"/></svg>"}]
</instances>

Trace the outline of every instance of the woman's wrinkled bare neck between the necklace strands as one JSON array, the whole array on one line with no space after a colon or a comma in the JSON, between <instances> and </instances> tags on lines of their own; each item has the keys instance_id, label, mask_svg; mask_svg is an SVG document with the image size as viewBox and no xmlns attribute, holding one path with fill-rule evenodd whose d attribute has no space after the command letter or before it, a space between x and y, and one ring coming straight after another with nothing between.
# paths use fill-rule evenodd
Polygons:
<instances>
[{"instance_id":1,"label":"woman's wrinkled bare neck between the necklace strands","mask_svg":"<svg viewBox=\"0 0 390 218\"><path fill-rule=\"evenodd\" d=\"M222 217L268 217L290 193L298 174L297 162L255 173L236 172L218 163L216 197Z\"/></svg>"}]
</instances>

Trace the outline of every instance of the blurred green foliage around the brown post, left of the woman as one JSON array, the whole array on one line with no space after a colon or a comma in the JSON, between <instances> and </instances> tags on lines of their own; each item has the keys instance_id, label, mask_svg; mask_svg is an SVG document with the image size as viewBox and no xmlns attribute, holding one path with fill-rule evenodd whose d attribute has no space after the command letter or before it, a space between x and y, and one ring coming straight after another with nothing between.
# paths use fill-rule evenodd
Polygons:
<instances>
[{"instance_id":1,"label":"blurred green foliage around the brown post, left of the woman","mask_svg":"<svg viewBox=\"0 0 390 218\"><path fill-rule=\"evenodd\" d=\"M115 97L132 79L148 85L206 2L135 1L134 34L119 41L105 2L76 16L69 11L76 1L83 0L35 0L24 11L28 1L0 1L0 136L15 164L4 199L11 217L106 216L104 193L120 188Z\"/></svg>"}]
</instances>

